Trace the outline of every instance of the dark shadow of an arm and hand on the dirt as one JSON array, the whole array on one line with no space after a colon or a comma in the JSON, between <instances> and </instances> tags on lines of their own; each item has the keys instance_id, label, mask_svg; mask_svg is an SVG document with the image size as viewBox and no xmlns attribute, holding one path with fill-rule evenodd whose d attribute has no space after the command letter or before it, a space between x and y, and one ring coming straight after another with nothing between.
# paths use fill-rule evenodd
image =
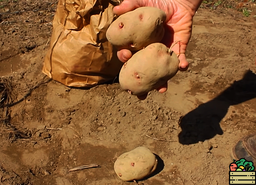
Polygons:
<instances>
[{"instance_id":1,"label":"dark shadow of an arm and hand on the dirt","mask_svg":"<svg viewBox=\"0 0 256 185\"><path fill-rule=\"evenodd\" d=\"M181 144L194 144L222 135L220 121L231 105L237 105L256 97L256 74L248 70L243 78L235 81L218 97L199 105L180 120L182 131L179 133Z\"/></svg>"}]
</instances>

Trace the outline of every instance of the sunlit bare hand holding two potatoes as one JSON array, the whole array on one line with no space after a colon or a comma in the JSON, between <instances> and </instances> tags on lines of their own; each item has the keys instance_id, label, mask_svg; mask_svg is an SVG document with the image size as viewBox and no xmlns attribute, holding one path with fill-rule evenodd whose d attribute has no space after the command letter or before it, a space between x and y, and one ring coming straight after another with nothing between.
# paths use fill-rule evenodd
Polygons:
<instances>
[{"instance_id":1,"label":"sunlit bare hand holding two potatoes","mask_svg":"<svg viewBox=\"0 0 256 185\"><path fill-rule=\"evenodd\" d=\"M185 57L187 44L191 38L192 20L202 0L124 0L121 5L114 7L114 14L121 15L132 11L138 7L151 6L157 7L166 13L165 36L162 40L167 47L174 42L180 41L172 50L178 55L180 60L179 70L188 69L189 63ZM132 53L129 50L121 50L117 53L122 62L131 58ZM167 83L156 89L160 93L167 90ZM139 99L146 99L147 94L139 96Z\"/></svg>"}]
</instances>

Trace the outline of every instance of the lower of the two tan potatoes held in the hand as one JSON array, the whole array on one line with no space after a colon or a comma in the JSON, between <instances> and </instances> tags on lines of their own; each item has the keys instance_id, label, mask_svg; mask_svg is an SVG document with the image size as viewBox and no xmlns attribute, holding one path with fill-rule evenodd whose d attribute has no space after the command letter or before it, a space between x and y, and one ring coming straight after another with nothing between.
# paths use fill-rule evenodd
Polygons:
<instances>
[{"instance_id":1,"label":"lower of the two tan potatoes held in the hand","mask_svg":"<svg viewBox=\"0 0 256 185\"><path fill-rule=\"evenodd\" d=\"M177 55L162 43L153 43L124 63L119 83L131 95L144 95L163 86L178 72Z\"/></svg>"}]
</instances>

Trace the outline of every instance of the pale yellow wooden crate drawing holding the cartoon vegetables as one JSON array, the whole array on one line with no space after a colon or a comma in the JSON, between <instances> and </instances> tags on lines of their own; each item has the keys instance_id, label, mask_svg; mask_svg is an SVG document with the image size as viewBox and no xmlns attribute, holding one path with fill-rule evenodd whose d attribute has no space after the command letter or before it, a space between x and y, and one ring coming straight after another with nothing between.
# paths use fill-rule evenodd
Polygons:
<instances>
[{"instance_id":1,"label":"pale yellow wooden crate drawing holding the cartoon vegetables","mask_svg":"<svg viewBox=\"0 0 256 185\"><path fill-rule=\"evenodd\" d=\"M229 171L229 184L256 184L255 171Z\"/></svg>"}]
</instances>

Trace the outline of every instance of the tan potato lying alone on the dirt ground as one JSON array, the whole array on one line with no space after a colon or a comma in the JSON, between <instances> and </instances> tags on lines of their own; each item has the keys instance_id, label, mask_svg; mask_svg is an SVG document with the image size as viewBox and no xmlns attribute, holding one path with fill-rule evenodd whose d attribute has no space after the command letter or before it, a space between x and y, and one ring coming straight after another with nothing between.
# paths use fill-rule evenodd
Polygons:
<instances>
[{"instance_id":1,"label":"tan potato lying alone on the dirt ground","mask_svg":"<svg viewBox=\"0 0 256 185\"><path fill-rule=\"evenodd\" d=\"M139 146L120 155L114 164L114 170L122 180L141 180L156 170L157 163L154 153Z\"/></svg>"}]
</instances>

